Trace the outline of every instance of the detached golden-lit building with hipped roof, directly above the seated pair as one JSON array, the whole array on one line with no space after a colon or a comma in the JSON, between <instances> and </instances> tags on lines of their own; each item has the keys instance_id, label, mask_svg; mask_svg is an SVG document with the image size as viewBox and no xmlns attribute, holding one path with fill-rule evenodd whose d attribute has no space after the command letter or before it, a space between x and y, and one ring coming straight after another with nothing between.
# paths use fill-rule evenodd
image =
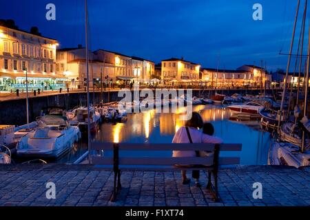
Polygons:
<instances>
[{"instance_id":1,"label":"detached golden-lit building with hipped roof, directly above the seated pair","mask_svg":"<svg viewBox=\"0 0 310 220\"><path fill-rule=\"evenodd\" d=\"M161 78L164 85L198 83L200 65L183 58L170 58L161 62Z\"/></svg>"}]
</instances>

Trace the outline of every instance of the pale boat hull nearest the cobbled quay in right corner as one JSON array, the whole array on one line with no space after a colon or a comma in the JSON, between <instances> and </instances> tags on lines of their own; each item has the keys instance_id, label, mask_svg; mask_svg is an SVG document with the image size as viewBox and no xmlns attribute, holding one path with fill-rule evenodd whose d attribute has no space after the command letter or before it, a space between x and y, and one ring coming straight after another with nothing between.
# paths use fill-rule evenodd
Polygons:
<instances>
[{"instance_id":1,"label":"pale boat hull nearest the cobbled quay in right corner","mask_svg":"<svg viewBox=\"0 0 310 220\"><path fill-rule=\"evenodd\" d=\"M310 165L310 151L300 152L299 146L287 142L273 142L268 154L268 165L300 166Z\"/></svg>"}]
</instances>

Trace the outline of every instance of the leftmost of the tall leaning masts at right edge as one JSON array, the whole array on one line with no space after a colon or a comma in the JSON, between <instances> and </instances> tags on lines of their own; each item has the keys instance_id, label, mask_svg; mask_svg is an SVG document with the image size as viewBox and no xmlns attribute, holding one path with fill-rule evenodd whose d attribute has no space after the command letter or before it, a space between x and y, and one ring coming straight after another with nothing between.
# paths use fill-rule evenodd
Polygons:
<instances>
[{"instance_id":1,"label":"leftmost of the tall leaning masts at right edge","mask_svg":"<svg viewBox=\"0 0 310 220\"><path fill-rule=\"evenodd\" d=\"M300 0L298 0L298 3L297 3L296 16L295 16L294 28L293 28L293 35L292 35L292 38L291 38L291 48L289 49L289 59L287 61L287 73L285 74L285 83L284 83L284 86L283 86L283 94L282 94L280 115L279 115L279 121L278 121L278 133L280 133L280 124L281 124L281 118L282 118L282 111L283 111L283 107L284 107L285 93L287 91L287 80L289 78L289 67L291 65L291 53L293 52L294 38L295 38L295 32L296 32L296 23L297 23L297 20L298 20L299 5L300 5Z\"/></svg>"}]
</instances>

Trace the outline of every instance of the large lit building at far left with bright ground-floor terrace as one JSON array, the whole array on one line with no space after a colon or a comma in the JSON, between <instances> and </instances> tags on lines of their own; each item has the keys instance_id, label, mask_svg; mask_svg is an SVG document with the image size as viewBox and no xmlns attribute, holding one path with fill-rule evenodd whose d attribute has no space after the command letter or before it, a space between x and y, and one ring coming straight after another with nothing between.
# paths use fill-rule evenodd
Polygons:
<instances>
[{"instance_id":1,"label":"large lit building at far left with bright ground-floor terrace","mask_svg":"<svg viewBox=\"0 0 310 220\"><path fill-rule=\"evenodd\" d=\"M59 89L65 77L56 74L54 39L0 26L0 91ZM26 76L28 82L26 82Z\"/></svg>"}]
</instances>

